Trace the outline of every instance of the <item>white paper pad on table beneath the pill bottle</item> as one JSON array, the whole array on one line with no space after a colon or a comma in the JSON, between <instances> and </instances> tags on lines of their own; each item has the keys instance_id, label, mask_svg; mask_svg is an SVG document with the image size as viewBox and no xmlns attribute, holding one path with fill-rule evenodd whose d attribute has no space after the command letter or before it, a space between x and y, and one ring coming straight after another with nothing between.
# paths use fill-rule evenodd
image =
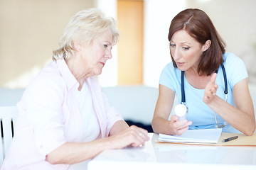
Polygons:
<instances>
[{"instance_id":1,"label":"white paper pad on table beneath the pill bottle","mask_svg":"<svg viewBox=\"0 0 256 170\"><path fill-rule=\"evenodd\" d=\"M187 130L182 135L159 134L161 142L181 142L181 143L218 143L222 129Z\"/></svg>"}]
</instances>

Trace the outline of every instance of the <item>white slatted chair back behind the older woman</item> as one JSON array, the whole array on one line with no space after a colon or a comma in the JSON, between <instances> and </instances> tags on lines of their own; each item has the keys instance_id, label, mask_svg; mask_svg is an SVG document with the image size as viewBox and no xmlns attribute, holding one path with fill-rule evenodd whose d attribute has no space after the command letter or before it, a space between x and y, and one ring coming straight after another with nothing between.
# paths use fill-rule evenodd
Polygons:
<instances>
[{"instance_id":1,"label":"white slatted chair back behind the older woman","mask_svg":"<svg viewBox=\"0 0 256 170\"><path fill-rule=\"evenodd\" d=\"M14 124L18 115L18 108L16 106L2 106L0 107L0 166L4 161L4 157L11 145L11 140L14 137Z\"/></svg>"}]
</instances>

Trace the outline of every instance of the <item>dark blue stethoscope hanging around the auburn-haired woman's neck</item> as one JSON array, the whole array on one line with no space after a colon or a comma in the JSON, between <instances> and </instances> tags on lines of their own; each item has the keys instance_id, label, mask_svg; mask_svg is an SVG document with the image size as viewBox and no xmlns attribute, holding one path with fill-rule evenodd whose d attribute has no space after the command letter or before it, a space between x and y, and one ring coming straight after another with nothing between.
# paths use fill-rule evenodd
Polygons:
<instances>
[{"instance_id":1,"label":"dark blue stethoscope hanging around the auburn-haired woman's neck","mask_svg":"<svg viewBox=\"0 0 256 170\"><path fill-rule=\"evenodd\" d=\"M228 100L228 81L227 81L227 75L225 72L225 67L223 64L221 64L221 68L223 69L223 77L224 77L224 84L225 84L225 88L224 88L224 94L225 94L225 101L227 102ZM215 71L215 73L218 73L218 69ZM184 71L181 71L181 104L186 106L186 96L185 96L185 89L184 89ZM188 110L188 108L187 108ZM223 125L219 125L217 118L216 118L216 113L214 113L215 115L215 128L224 128L227 125L227 122L223 123Z\"/></svg>"}]
</instances>

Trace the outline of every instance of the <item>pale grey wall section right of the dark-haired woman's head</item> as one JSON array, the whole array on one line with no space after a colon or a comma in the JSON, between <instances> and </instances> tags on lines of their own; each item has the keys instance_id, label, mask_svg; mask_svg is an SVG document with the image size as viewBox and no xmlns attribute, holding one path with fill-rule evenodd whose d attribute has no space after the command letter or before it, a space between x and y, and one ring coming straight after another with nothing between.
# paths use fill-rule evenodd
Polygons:
<instances>
[{"instance_id":1,"label":"pale grey wall section right of the dark-haired woman's head","mask_svg":"<svg viewBox=\"0 0 256 170\"><path fill-rule=\"evenodd\" d=\"M249 79L256 77L256 1L255 0L188 0L190 8L201 8L210 16L227 52L242 58Z\"/></svg>"}]
</instances>

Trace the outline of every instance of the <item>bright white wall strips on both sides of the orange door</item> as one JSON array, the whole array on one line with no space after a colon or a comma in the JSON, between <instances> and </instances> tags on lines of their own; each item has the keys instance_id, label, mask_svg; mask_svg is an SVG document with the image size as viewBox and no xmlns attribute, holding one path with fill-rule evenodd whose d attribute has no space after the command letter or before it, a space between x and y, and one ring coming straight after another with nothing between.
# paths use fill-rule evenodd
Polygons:
<instances>
[{"instance_id":1,"label":"bright white wall strips on both sides of the orange door","mask_svg":"<svg viewBox=\"0 0 256 170\"><path fill-rule=\"evenodd\" d=\"M97 0L97 7L117 18L115 0ZM169 25L184 8L186 0L144 0L144 85L157 87L161 69L171 61L167 39ZM101 86L117 85L117 47L113 48L112 55L98 77Z\"/></svg>"}]
</instances>

